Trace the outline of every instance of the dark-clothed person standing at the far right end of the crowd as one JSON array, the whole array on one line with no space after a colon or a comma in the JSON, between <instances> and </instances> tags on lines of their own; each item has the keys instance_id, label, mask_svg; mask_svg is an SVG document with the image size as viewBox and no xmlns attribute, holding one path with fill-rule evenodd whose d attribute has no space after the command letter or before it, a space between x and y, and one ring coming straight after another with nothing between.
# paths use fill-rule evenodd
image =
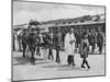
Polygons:
<instances>
[{"instance_id":1,"label":"dark-clothed person standing at the far right end of the crowd","mask_svg":"<svg viewBox=\"0 0 110 82\"><path fill-rule=\"evenodd\" d=\"M99 51L101 54L102 45L103 45L103 36L102 36L101 32L98 32L98 34L97 34L97 45L98 45Z\"/></svg>"}]
</instances>

